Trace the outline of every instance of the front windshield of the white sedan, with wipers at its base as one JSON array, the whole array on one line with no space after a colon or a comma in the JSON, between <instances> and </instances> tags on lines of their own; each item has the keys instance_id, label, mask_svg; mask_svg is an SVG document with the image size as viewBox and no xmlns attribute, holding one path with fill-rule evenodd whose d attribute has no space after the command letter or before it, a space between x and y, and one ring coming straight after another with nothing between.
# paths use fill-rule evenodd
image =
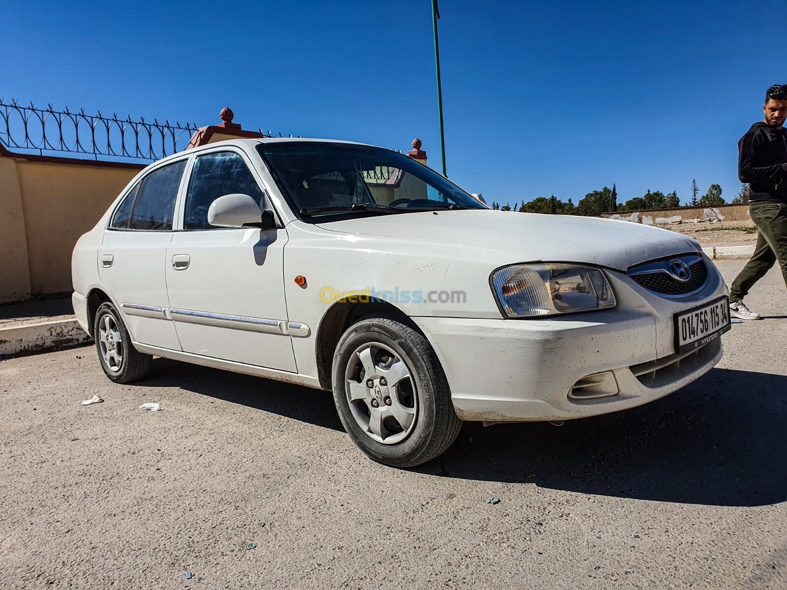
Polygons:
<instances>
[{"instance_id":1,"label":"front windshield of the white sedan, with wipers at its base","mask_svg":"<svg viewBox=\"0 0 787 590\"><path fill-rule=\"evenodd\" d=\"M379 215L484 205L434 170L389 149L328 142L257 147L301 219Z\"/></svg>"}]
</instances>

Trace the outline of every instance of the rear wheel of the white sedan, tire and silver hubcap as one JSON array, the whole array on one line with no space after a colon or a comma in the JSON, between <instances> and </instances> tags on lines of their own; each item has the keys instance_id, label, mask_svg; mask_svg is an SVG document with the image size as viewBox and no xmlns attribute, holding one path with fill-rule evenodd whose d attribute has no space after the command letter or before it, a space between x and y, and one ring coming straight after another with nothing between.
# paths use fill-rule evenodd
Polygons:
<instances>
[{"instance_id":1,"label":"rear wheel of the white sedan, tire and silver hubcap","mask_svg":"<svg viewBox=\"0 0 787 590\"><path fill-rule=\"evenodd\" d=\"M113 304L105 301L98 306L93 326L98 362L109 379L116 383L131 383L150 373L153 356L134 348L123 319Z\"/></svg>"}]
</instances>

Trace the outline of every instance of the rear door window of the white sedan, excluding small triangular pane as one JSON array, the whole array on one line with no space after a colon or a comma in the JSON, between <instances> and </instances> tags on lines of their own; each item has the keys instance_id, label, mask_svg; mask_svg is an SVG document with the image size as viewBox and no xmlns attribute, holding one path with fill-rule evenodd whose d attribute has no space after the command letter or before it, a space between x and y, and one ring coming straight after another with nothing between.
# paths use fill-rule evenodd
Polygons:
<instances>
[{"instance_id":1,"label":"rear door window of the white sedan, excluding small triangular pane","mask_svg":"<svg viewBox=\"0 0 787 590\"><path fill-rule=\"evenodd\" d=\"M172 230L175 200L186 160L169 164L142 179L137 200L131 212L131 230Z\"/></svg>"}]
</instances>

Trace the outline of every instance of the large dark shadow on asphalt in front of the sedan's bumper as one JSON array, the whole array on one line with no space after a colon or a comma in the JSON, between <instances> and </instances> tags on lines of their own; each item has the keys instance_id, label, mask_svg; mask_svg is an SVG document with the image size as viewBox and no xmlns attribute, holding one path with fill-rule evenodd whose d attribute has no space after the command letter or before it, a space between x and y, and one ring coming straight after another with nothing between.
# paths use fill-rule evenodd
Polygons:
<instances>
[{"instance_id":1,"label":"large dark shadow on asphalt in front of the sedan's bumper","mask_svg":"<svg viewBox=\"0 0 787 590\"><path fill-rule=\"evenodd\" d=\"M787 500L787 377L714 369L632 410L566 422L464 425L422 473L640 500Z\"/></svg>"}]
</instances>

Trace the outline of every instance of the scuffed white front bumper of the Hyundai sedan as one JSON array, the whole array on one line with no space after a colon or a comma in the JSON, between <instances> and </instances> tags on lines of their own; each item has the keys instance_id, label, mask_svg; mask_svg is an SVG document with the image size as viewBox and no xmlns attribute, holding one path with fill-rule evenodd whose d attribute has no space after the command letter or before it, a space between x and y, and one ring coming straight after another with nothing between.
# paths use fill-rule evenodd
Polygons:
<instances>
[{"instance_id":1,"label":"scuffed white front bumper of the Hyundai sedan","mask_svg":"<svg viewBox=\"0 0 787 590\"><path fill-rule=\"evenodd\" d=\"M727 293L710 260L700 293L666 299L628 276L607 272L618 307L550 319L412 318L437 352L456 414L463 420L576 419L666 396L707 373L722 357L717 338L674 353L673 316ZM610 371L611 374L606 372ZM575 386L604 374L611 393L575 399ZM586 390L588 391L588 390Z\"/></svg>"}]
</instances>

